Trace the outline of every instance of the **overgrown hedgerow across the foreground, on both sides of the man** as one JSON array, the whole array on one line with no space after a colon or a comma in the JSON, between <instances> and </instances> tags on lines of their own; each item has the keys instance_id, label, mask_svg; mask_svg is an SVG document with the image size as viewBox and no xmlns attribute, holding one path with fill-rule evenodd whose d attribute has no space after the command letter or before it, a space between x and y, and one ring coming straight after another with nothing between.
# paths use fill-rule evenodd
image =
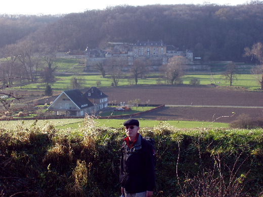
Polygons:
<instances>
[{"instance_id":1,"label":"overgrown hedgerow across the foreground, on both sides of the man","mask_svg":"<svg viewBox=\"0 0 263 197\"><path fill-rule=\"evenodd\" d=\"M77 132L21 123L1 128L1 196L118 196L122 128ZM155 139L154 196L260 196L262 130L179 130L165 122L141 128Z\"/></svg>"}]
</instances>

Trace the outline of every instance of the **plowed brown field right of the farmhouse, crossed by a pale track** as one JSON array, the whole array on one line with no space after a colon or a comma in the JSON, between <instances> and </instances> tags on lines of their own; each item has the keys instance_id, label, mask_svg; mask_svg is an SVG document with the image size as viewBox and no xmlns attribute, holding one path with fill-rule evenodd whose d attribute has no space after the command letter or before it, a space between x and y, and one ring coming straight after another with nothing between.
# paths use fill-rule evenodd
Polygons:
<instances>
[{"instance_id":1,"label":"plowed brown field right of the farmhouse, crossed by a pale track","mask_svg":"<svg viewBox=\"0 0 263 197\"><path fill-rule=\"evenodd\" d=\"M142 104L186 105L165 107L158 111L138 116L152 120L194 120L232 122L241 114L250 117L263 115L263 92L222 89L212 86L127 86L100 88L107 94L108 101L117 104L140 98ZM198 107L197 107L198 106ZM211 106L211 107L205 107ZM213 107L220 106L220 107Z\"/></svg>"}]
</instances>

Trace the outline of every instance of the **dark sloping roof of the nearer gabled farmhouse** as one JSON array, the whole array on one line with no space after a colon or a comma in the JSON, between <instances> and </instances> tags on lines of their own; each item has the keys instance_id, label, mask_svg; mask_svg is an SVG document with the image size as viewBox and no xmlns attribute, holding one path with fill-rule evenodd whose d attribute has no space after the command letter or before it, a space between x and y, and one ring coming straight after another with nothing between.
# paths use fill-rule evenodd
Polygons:
<instances>
[{"instance_id":1,"label":"dark sloping roof of the nearer gabled farmhouse","mask_svg":"<svg viewBox=\"0 0 263 197\"><path fill-rule=\"evenodd\" d=\"M94 106L79 89L71 89L63 91L70 100L76 104L80 109Z\"/></svg>"}]
</instances>

